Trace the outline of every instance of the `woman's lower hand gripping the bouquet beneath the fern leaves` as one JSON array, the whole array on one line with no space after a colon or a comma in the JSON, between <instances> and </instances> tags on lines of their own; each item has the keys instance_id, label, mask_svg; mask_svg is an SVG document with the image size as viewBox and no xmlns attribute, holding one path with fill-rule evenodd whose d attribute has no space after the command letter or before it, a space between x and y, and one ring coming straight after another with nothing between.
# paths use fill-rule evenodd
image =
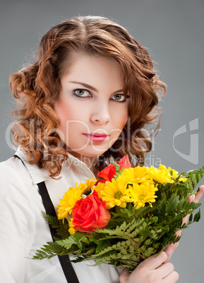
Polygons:
<instances>
[{"instance_id":1,"label":"woman's lower hand gripping the bouquet beneath the fern leaves","mask_svg":"<svg viewBox=\"0 0 204 283\"><path fill-rule=\"evenodd\" d=\"M168 263L167 253L162 251L160 256L150 256L129 274L124 269L121 272L120 283L174 283L179 279L179 274L174 271L174 265Z\"/></svg>"}]
</instances>

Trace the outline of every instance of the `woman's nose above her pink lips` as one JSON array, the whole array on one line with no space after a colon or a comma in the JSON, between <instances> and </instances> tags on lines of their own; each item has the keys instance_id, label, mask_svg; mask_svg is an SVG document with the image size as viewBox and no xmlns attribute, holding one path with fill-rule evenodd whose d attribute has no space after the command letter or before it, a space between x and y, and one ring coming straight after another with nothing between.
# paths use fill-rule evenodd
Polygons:
<instances>
[{"instance_id":1,"label":"woman's nose above her pink lips","mask_svg":"<svg viewBox=\"0 0 204 283\"><path fill-rule=\"evenodd\" d=\"M106 124L110 121L110 113L109 113L109 106L107 103L97 103L97 105L94 106L92 115L90 117L92 122L98 123L98 124Z\"/></svg>"}]
</instances>

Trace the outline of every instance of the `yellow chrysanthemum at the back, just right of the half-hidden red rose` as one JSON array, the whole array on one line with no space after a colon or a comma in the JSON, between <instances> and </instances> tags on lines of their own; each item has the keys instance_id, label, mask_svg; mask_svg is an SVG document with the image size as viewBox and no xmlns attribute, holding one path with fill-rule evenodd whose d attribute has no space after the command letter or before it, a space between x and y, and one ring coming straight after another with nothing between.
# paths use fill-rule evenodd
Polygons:
<instances>
[{"instance_id":1,"label":"yellow chrysanthemum at the back, just right of the half-hidden red rose","mask_svg":"<svg viewBox=\"0 0 204 283\"><path fill-rule=\"evenodd\" d=\"M119 176L119 180L124 179L126 184L147 182L150 180L148 168L137 166L136 168L126 168ZM150 180L151 182L151 180Z\"/></svg>"}]
</instances>

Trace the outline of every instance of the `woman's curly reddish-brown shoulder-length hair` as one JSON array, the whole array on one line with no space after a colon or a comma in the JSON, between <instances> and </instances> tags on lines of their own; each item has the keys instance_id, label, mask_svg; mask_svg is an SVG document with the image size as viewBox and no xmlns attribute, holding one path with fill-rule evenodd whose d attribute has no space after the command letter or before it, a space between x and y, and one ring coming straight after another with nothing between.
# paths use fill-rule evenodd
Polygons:
<instances>
[{"instance_id":1,"label":"woman's curly reddish-brown shoulder-length hair","mask_svg":"<svg viewBox=\"0 0 204 283\"><path fill-rule=\"evenodd\" d=\"M76 17L52 27L42 37L35 63L11 75L10 87L19 106L13 113L18 116L11 129L13 139L27 153L30 163L47 167L51 177L60 174L68 155L56 131L59 118L54 102L73 52L104 56L119 63L124 94L130 96L126 127L100 156L97 170L104 168L110 157L117 161L125 154L132 163L136 160L143 165L145 153L152 148L150 134L144 129L151 124L157 132L158 101L166 87L156 75L148 51L124 27L104 17Z\"/></svg>"}]
</instances>

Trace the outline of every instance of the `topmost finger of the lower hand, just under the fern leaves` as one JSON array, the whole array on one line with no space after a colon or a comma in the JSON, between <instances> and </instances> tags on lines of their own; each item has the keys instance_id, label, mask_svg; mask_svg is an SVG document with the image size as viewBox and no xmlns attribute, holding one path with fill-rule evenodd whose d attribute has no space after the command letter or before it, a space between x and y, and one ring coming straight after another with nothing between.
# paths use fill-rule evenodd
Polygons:
<instances>
[{"instance_id":1,"label":"topmost finger of the lower hand, just under the fern leaves","mask_svg":"<svg viewBox=\"0 0 204 283\"><path fill-rule=\"evenodd\" d=\"M145 265L145 268L147 270L155 270L155 268L158 268L160 265L162 265L162 263L165 263L167 259L167 253L162 251L159 256L157 256L156 253L155 255L145 259L142 263L140 263L140 267L143 267L143 265Z\"/></svg>"}]
</instances>

